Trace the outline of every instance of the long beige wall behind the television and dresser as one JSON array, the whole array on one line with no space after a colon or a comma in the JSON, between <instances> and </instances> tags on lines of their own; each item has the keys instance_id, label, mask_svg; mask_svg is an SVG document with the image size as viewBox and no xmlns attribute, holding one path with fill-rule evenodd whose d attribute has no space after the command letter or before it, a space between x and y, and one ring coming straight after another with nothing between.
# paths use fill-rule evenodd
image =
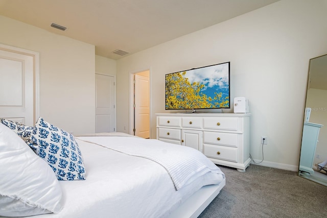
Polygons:
<instances>
[{"instance_id":1,"label":"long beige wall behind the television and dresser","mask_svg":"<svg viewBox=\"0 0 327 218\"><path fill-rule=\"evenodd\" d=\"M267 136L263 165L296 171L309 59L327 53L326 11L326 0L284 0L118 60L118 131L129 126L132 72L150 69L155 138L155 113L168 112L165 74L230 61L231 102L250 101L252 157L262 159Z\"/></svg>"}]
</instances>

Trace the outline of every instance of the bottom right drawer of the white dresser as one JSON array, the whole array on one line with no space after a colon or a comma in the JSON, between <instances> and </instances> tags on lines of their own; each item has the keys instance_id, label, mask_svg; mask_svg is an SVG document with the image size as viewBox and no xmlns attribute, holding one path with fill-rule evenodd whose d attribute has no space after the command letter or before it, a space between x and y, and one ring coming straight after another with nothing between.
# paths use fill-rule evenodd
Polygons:
<instances>
[{"instance_id":1,"label":"bottom right drawer of the white dresser","mask_svg":"<svg viewBox=\"0 0 327 218\"><path fill-rule=\"evenodd\" d=\"M203 144L203 154L207 157L238 162L237 148Z\"/></svg>"}]
</instances>

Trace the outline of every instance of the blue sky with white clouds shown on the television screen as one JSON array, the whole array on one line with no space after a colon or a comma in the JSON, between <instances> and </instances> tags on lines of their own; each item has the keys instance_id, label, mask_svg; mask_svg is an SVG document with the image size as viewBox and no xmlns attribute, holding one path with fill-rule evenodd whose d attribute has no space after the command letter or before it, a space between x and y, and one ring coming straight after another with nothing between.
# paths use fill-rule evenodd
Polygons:
<instances>
[{"instance_id":1,"label":"blue sky with white clouds shown on the television screen","mask_svg":"<svg viewBox=\"0 0 327 218\"><path fill-rule=\"evenodd\" d=\"M228 63L188 70L185 77L190 83L200 82L205 87L214 88L217 91L224 90L229 84Z\"/></svg>"}]
</instances>

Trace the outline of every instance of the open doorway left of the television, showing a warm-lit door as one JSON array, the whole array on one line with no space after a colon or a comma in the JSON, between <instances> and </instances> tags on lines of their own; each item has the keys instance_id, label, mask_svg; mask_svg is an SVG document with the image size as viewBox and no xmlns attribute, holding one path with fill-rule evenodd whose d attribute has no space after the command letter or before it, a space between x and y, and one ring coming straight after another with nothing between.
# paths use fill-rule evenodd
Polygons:
<instances>
[{"instance_id":1,"label":"open doorway left of the television, showing a warm-lit door","mask_svg":"<svg viewBox=\"0 0 327 218\"><path fill-rule=\"evenodd\" d=\"M150 70L131 74L130 134L150 138Z\"/></svg>"}]
</instances>

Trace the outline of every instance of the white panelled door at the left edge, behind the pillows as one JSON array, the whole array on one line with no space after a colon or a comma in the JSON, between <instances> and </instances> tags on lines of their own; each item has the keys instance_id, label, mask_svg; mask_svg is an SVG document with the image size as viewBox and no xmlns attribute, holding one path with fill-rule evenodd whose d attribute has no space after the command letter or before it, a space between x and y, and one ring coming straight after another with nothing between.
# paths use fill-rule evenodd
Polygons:
<instances>
[{"instance_id":1,"label":"white panelled door at the left edge, behind the pillows","mask_svg":"<svg viewBox=\"0 0 327 218\"><path fill-rule=\"evenodd\" d=\"M0 117L34 126L38 53L28 52L0 45Z\"/></svg>"}]
</instances>

